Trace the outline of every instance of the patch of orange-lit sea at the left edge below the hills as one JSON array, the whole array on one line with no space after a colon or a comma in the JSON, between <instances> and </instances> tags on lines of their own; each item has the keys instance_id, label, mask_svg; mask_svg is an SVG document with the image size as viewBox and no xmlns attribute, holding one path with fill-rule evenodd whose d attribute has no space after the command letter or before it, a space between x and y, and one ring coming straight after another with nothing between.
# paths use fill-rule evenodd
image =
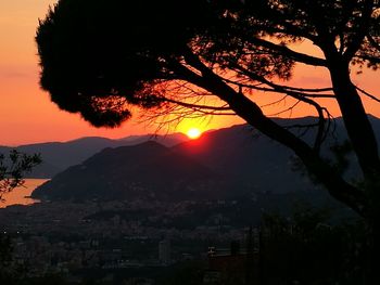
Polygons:
<instances>
[{"instance_id":1,"label":"patch of orange-lit sea at the left edge below the hills","mask_svg":"<svg viewBox=\"0 0 380 285\"><path fill-rule=\"evenodd\" d=\"M0 200L0 208L5 208L11 205L30 205L39 203L38 199L30 198L31 192L47 181L49 181L49 179L25 179L23 186L16 187L12 192L2 195L3 200Z\"/></svg>"}]
</instances>

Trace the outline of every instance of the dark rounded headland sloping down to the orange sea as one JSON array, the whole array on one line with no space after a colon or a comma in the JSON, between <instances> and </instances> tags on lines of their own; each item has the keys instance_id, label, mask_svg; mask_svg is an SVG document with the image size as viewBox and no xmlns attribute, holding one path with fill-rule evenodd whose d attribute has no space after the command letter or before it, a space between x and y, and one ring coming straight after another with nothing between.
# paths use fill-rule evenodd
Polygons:
<instances>
[{"instance_id":1,"label":"dark rounded headland sloping down to the orange sea","mask_svg":"<svg viewBox=\"0 0 380 285\"><path fill-rule=\"evenodd\" d=\"M34 197L152 198L178 200L216 197L214 173L156 142L105 148L38 187Z\"/></svg>"}]
</instances>

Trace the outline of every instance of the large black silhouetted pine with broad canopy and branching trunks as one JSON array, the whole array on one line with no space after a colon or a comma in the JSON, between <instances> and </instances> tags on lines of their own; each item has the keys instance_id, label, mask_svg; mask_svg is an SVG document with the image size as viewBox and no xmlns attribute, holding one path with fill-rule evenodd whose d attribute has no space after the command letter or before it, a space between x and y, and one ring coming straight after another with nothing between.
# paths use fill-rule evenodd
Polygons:
<instances>
[{"instance_id":1,"label":"large black silhouetted pine with broad canopy and branching trunks","mask_svg":"<svg viewBox=\"0 0 380 285\"><path fill-rule=\"evenodd\" d=\"M354 64L360 72L380 66L379 30L378 0L60 0L40 22L36 40L41 86L61 108L110 127L130 118L134 106L160 115L240 116L292 150L380 237L380 159L360 95L380 100L351 75ZM303 41L322 55L293 49ZM326 69L330 86L279 83L300 63ZM250 96L255 91L313 106L319 118L314 144L264 115ZM340 107L363 171L360 185L345 181L320 155L329 117L320 98Z\"/></svg>"}]
</instances>

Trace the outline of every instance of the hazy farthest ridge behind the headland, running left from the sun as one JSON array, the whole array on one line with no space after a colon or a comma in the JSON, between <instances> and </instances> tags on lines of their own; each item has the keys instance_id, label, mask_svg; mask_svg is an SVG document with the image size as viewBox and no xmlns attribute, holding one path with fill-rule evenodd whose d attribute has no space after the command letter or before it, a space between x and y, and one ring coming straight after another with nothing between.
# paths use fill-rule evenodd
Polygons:
<instances>
[{"instance_id":1,"label":"hazy farthest ridge behind the headland, running left from the sun","mask_svg":"<svg viewBox=\"0 0 380 285\"><path fill-rule=\"evenodd\" d=\"M20 152L34 154L39 153L42 164L36 167L28 178L52 178L69 166L83 163L90 156L105 147L117 147L123 145L135 145L147 141L156 141L166 146L173 146L187 141L182 133L167 135L131 135L119 140L111 140L99 137L87 137L68 142L48 142L21 145L16 147ZM12 147L0 146L0 153L7 154Z\"/></svg>"}]
</instances>

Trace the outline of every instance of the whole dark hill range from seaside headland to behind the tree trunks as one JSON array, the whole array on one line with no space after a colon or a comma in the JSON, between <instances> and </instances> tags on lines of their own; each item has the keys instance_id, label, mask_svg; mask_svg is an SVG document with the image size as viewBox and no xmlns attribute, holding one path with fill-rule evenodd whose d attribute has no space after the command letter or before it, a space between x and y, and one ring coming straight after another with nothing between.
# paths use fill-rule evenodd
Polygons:
<instances>
[{"instance_id":1,"label":"whole dark hill range from seaside headland to behind the tree trunks","mask_svg":"<svg viewBox=\"0 0 380 285\"><path fill-rule=\"evenodd\" d=\"M370 119L379 135L380 120L372 117ZM287 127L308 125L313 120L312 117L277 119L278 124ZM292 130L306 141L313 142L313 130ZM322 153L327 159L333 160L329 146L342 143L346 135L341 119L333 122L331 130ZM155 151L150 156L152 150ZM349 158L352 161L356 159L353 155L349 155ZM240 125L210 131L198 140L177 144L172 150L159 144L104 150L84 164L58 174L39 187L35 195L48 198L153 198L170 193L187 199L191 195L181 190L192 189L198 183L191 183L192 180L199 181L197 186L203 189L197 195L203 193L204 197L218 198L242 197L254 193L281 194L320 187L303 171L295 170L296 168L300 169L300 161L291 151L261 135L252 127ZM185 179L186 172L194 177ZM358 178L359 174L357 168L351 167L346 177ZM141 185L143 186L140 187ZM138 191L139 187L148 189L149 194L147 191Z\"/></svg>"}]
</instances>

